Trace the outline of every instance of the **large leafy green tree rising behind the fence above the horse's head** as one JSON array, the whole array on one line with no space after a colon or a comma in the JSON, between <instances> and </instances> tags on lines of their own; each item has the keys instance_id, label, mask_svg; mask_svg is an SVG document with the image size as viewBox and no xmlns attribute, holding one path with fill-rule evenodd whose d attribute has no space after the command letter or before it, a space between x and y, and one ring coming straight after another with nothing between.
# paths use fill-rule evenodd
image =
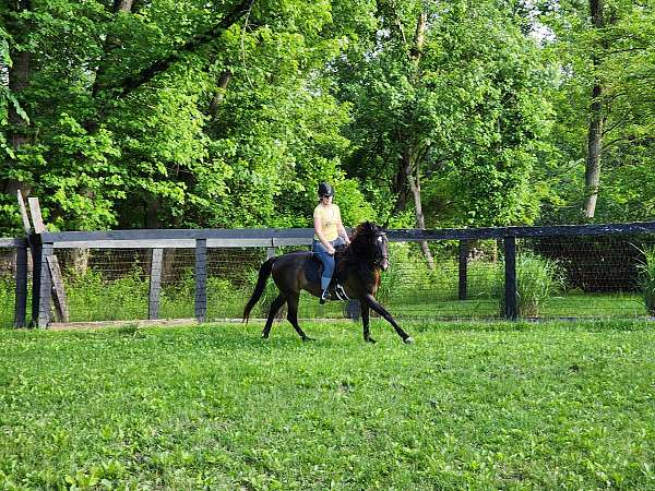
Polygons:
<instances>
[{"instance_id":1,"label":"large leafy green tree rising behind the fence above the horse's head","mask_svg":"<svg viewBox=\"0 0 655 491\"><path fill-rule=\"evenodd\" d=\"M432 223L533 220L529 176L550 116L535 41L496 2L379 2L378 16L342 67L353 175L386 190L388 213L414 195L415 226L421 181L445 191Z\"/></svg>"}]
</instances>

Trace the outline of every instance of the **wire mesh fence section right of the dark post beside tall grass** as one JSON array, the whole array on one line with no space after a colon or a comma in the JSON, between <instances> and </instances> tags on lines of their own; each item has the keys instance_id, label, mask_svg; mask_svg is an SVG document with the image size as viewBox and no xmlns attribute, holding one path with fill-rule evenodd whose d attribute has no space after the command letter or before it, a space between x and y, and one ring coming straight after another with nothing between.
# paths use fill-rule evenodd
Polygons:
<instances>
[{"instance_id":1,"label":"wire mesh fence section right of the dark post beside tall grass","mask_svg":"<svg viewBox=\"0 0 655 491\"><path fill-rule=\"evenodd\" d=\"M552 237L520 241L522 316L651 315L646 283L655 236Z\"/></svg>"}]
</instances>

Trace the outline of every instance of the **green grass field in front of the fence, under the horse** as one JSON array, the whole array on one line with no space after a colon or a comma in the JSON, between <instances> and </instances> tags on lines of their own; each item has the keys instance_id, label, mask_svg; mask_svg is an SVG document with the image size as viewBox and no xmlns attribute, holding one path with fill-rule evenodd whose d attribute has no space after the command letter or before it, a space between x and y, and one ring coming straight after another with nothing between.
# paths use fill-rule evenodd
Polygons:
<instances>
[{"instance_id":1,"label":"green grass field in front of the fence, under the horse","mask_svg":"<svg viewBox=\"0 0 655 491\"><path fill-rule=\"evenodd\" d=\"M3 489L655 489L653 324L0 331Z\"/></svg>"}]
</instances>

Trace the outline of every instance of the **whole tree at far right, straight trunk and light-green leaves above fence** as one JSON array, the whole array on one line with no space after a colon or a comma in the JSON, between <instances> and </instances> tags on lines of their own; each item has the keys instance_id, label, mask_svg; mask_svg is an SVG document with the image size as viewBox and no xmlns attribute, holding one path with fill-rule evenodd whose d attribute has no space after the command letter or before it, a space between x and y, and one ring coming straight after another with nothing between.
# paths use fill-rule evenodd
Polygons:
<instances>
[{"instance_id":1,"label":"whole tree at far right, straight trunk and light-green leaves above fence","mask_svg":"<svg viewBox=\"0 0 655 491\"><path fill-rule=\"evenodd\" d=\"M550 49L561 74L553 94L552 171L567 176L553 185L562 212L548 212L550 220L580 220L581 208L586 220L627 219L626 212L632 219L647 216L648 207L624 205L650 200L641 185L628 183L647 175L653 163L646 151L654 134L650 94L655 87L647 75L653 7L652 1L559 1L541 14L553 33ZM572 180L579 184L569 185ZM604 195L607 200L599 199Z\"/></svg>"}]
</instances>

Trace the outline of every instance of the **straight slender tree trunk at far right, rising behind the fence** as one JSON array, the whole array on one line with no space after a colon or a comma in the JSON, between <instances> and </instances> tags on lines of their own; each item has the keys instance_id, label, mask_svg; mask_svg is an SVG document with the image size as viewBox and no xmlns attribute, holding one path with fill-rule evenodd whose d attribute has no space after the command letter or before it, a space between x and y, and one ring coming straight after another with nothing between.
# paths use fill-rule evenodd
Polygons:
<instances>
[{"instance_id":1,"label":"straight slender tree trunk at far right, rising behind the fence","mask_svg":"<svg viewBox=\"0 0 655 491\"><path fill-rule=\"evenodd\" d=\"M603 19L603 0L590 0L590 13L594 28L600 29L605 26ZM598 56L592 56L594 76L600 64ZM595 79L592 89L592 104L590 106L590 127L587 131L587 155L585 160L584 184L586 202L584 206L584 216L594 218L596 213L596 202L598 201L598 187L600 184L600 157L603 153L603 127L605 124L603 107L604 87Z\"/></svg>"}]
</instances>

